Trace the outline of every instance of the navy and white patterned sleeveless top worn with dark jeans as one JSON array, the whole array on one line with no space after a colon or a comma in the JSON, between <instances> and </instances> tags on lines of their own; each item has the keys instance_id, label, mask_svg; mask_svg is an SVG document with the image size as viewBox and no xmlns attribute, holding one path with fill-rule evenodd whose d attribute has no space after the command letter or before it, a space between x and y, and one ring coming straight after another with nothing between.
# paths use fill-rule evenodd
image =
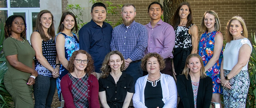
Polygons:
<instances>
[{"instance_id":1,"label":"navy and white patterned sleeveless top worn with dark jeans","mask_svg":"<svg viewBox=\"0 0 256 108\"><path fill-rule=\"evenodd\" d=\"M47 42L42 41L42 52L45 59L55 68L56 63L56 45L53 39L49 39ZM52 77L52 72L43 67L37 58L35 57L35 69L39 75Z\"/></svg>"}]
</instances>

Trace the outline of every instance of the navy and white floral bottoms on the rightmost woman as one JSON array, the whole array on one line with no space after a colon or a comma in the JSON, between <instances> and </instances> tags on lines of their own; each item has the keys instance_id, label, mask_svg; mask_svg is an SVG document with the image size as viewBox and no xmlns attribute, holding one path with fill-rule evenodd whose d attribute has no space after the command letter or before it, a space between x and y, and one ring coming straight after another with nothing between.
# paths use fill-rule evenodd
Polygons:
<instances>
[{"instance_id":1,"label":"navy and white floral bottoms on the rightmost woman","mask_svg":"<svg viewBox=\"0 0 256 108\"><path fill-rule=\"evenodd\" d=\"M230 73L230 70L224 70L224 75ZM246 97L250 85L249 73L247 70L241 70L235 77L229 80L231 89L223 87L223 98L225 108L245 108Z\"/></svg>"}]
</instances>

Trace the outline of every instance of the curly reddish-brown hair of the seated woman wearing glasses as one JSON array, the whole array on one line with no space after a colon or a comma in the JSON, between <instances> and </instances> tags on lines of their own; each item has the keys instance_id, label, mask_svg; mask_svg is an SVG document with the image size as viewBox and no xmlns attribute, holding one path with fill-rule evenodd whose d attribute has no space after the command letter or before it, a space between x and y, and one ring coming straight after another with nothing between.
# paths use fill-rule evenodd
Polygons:
<instances>
[{"instance_id":1,"label":"curly reddish-brown hair of the seated woman wearing glasses","mask_svg":"<svg viewBox=\"0 0 256 108\"><path fill-rule=\"evenodd\" d=\"M91 73L94 72L94 65L93 65L94 61L92 60L92 56L84 50L78 50L78 51L74 51L72 53L72 56L70 57L68 64L67 64L67 70L69 71L69 73L74 72L74 68L75 68L74 60L78 54L86 54L88 63L87 63L86 68L84 69L84 72L88 73L88 75L91 75Z\"/></svg>"}]
</instances>

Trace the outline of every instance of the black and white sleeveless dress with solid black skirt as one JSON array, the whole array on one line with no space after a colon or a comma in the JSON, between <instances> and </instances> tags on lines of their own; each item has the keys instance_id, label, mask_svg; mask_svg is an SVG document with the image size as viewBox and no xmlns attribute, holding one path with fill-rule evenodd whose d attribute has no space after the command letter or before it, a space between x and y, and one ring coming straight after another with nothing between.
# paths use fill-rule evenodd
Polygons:
<instances>
[{"instance_id":1,"label":"black and white sleeveless dress with solid black skirt","mask_svg":"<svg viewBox=\"0 0 256 108\"><path fill-rule=\"evenodd\" d=\"M173 64L176 72L176 77L182 74L186 64L186 58L192 51L191 35L188 30L191 26L177 26L175 29L175 45L173 48Z\"/></svg>"}]
</instances>

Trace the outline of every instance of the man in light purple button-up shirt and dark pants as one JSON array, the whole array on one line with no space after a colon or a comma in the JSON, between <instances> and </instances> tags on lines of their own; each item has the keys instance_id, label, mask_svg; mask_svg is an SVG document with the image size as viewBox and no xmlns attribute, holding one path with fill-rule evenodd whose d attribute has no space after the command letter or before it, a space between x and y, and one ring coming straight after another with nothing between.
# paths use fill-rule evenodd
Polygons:
<instances>
[{"instance_id":1,"label":"man in light purple button-up shirt and dark pants","mask_svg":"<svg viewBox=\"0 0 256 108\"><path fill-rule=\"evenodd\" d=\"M145 54L156 52L165 60L165 68L161 73L173 76L172 59L175 44L175 32L173 27L162 21L163 6L159 2L152 2L148 6L150 22L146 24L148 31L148 46Z\"/></svg>"}]
</instances>

